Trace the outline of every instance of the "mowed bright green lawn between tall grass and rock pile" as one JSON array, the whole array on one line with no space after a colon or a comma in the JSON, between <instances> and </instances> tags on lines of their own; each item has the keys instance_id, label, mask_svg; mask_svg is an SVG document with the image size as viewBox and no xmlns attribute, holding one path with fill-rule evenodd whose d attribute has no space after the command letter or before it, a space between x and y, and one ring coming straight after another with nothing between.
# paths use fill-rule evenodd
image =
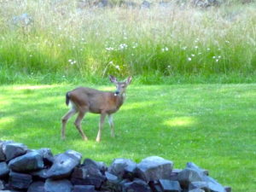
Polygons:
<instances>
[{"instance_id":1,"label":"mowed bright green lawn between tall grass and rock pile","mask_svg":"<svg viewBox=\"0 0 256 192\"><path fill-rule=\"evenodd\" d=\"M54 154L74 149L84 158L139 162L159 155L183 168L193 161L235 192L256 189L256 84L136 85L127 90L124 106L114 115L117 137L108 121L96 143L99 116L83 121L89 142L67 124L61 140L65 93L77 85L3 85L0 94L0 139L29 148L51 148ZM93 86L114 90L113 86Z\"/></svg>"}]
</instances>

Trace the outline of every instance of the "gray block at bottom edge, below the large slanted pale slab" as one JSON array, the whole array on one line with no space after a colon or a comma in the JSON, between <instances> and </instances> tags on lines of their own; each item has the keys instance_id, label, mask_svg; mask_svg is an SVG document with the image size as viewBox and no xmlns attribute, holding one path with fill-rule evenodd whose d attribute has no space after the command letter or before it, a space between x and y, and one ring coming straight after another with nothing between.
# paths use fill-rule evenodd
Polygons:
<instances>
[{"instance_id":1,"label":"gray block at bottom edge, below the large slanted pale slab","mask_svg":"<svg viewBox=\"0 0 256 192\"><path fill-rule=\"evenodd\" d=\"M73 185L67 179L52 180L46 179L44 183L45 192L72 192Z\"/></svg>"}]
</instances>

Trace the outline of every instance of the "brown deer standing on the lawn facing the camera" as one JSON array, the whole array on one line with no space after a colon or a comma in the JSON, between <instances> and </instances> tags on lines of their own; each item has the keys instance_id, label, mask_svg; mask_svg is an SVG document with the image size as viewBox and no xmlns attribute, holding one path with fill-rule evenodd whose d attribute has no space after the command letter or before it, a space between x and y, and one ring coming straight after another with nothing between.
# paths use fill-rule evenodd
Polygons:
<instances>
[{"instance_id":1,"label":"brown deer standing on the lawn facing the camera","mask_svg":"<svg viewBox=\"0 0 256 192\"><path fill-rule=\"evenodd\" d=\"M74 90L68 91L66 94L66 104L70 105L70 110L61 118L61 138L66 138L66 125L75 113L78 113L74 121L74 125L79 131L84 141L88 137L84 134L81 127L81 122L84 119L85 113L100 114L99 130L96 137L96 142L99 143L102 137L102 128L104 120L108 115L108 123L111 128L111 137L114 137L113 113L119 111L119 108L125 102L125 90L131 84L131 76L125 81L119 82L112 75L109 76L110 81L115 84L116 90L114 92L96 90L88 87L78 87Z\"/></svg>"}]
</instances>

